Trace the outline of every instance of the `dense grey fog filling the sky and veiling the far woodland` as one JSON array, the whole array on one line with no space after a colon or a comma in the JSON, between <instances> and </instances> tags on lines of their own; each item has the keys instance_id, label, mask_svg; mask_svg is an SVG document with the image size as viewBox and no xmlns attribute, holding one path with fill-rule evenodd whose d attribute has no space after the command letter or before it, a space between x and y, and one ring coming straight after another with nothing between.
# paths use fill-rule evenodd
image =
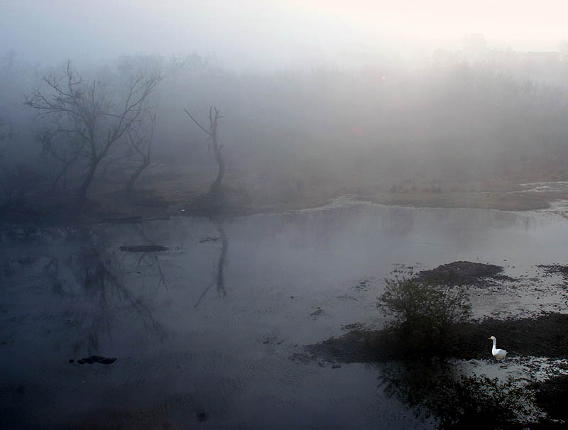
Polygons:
<instances>
[{"instance_id":1,"label":"dense grey fog filling the sky and veiling the far woodland","mask_svg":"<svg viewBox=\"0 0 568 430\"><path fill-rule=\"evenodd\" d=\"M398 34L387 26L383 33L371 31L363 11L383 15L363 3L356 12L318 2L217 2L209 11L119 2L114 16L62 1L53 7L4 1L4 202L15 189L26 199L63 180L66 189L82 182L91 162L77 150L78 137L74 143L69 133L48 145L45 140L77 118L30 104L33 94L52 97L45 78L65 82L67 70L80 79L80 94L97 82L96 97L111 115L134 77L159 76L135 123L147 138L146 111L155 113L151 165L161 169L154 172L195 172L187 189L211 180L216 162L207 136L184 110L207 125L209 106L224 116L219 138L226 184L252 199L286 201L306 189L339 194L564 178L568 45L553 39L559 37L556 21L532 45L520 38L515 48L498 32L451 38L451 26L422 38L405 37L405 27ZM526 11L516 11L510 19L528 19ZM408 26L418 12L409 12L407 21L403 9L391 8L387 16ZM526 49L534 47L552 49ZM97 124L103 140L115 126L112 118ZM101 178L107 191L122 187L136 170L128 136L125 131L104 153L93 187Z\"/></svg>"}]
</instances>

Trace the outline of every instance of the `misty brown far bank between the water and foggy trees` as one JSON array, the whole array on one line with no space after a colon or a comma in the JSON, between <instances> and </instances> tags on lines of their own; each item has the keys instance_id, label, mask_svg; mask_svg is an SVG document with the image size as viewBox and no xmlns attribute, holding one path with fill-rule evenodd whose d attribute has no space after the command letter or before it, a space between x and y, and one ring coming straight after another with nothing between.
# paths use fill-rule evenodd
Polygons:
<instances>
[{"instance_id":1,"label":"misty brown far bank between the water and foggy trees","mask_svg":"<svg viewBox=\"0 0 568 430\"><path fill-rule=\"evenodd\" d=\"M258 192L258 189L252 192L241 180L234 178L231 181L228 178L224 186L224 199L219 202L209 198L209 186L205 178L197 180L187 173L170 172L168 177L164 177L148 172L148 177L141 182L140 188L131 193L95 184L87 203L81 209L76 207L72 193L38 193L18 206L0 208L0 219L14 224L54 225L64 222L118 222L176 215L213 216L222 213L226 216L244 216L316 208L347 194L391 206L504 211L548 209L553 202L568 200L567 190L533 190L524 187L529 184L515 182L466 182L411 189L327 184L325 187L304 187L302 192Z\"/></svg>"}]
</instances>

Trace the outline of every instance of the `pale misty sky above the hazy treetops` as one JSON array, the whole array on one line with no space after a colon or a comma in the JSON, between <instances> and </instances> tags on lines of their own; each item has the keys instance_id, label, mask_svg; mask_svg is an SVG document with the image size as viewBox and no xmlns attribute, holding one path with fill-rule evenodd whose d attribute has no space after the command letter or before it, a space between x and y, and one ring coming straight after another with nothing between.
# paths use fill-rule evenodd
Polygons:
<instances>
[{"instance_id":1,"label":"pale misty sky above the hazy treetops","mask_svg":"<svg viewBox=\"0 0 568 430\"><path fill-rule=\"evenodd\" d=\"M567 12L550 0L0 0L0 50L43 64L197 52L245 68L428 57L469 33L496 48L557 50Z\"/></svg>"}]
</instances>

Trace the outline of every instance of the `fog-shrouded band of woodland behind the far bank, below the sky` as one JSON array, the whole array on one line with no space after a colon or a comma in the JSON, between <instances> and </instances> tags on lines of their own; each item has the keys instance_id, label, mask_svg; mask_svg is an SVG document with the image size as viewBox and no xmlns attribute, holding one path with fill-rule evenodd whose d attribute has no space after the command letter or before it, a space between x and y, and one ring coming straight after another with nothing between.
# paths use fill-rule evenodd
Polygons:
<instances>
[{"instance_id":1,"label":"fog-shrouded band of woodland behind the far bank, below the sky","mask_svg":"<svg viewBox=\"0 0 568 430\"><path fill-rule=\"evenodd\" d=\"M147 100L157 109L153 162L213 169L203 133L184 109L206 122L209 106L217 106L225 116L220 141L227 168L244 172L251 190L568 179L566 88L515 78L482 62L235 72L194 54L71 65L115 107L133 77L163 77ZM19 62L14 53L1 57L0 204L25 194L18 187L45 189L60 172L61 158L50 156L42 140L54 118L38 116L24 101L34 91L50 94L43 78L65 79L65 67ZM65 125L69 118L55 120ZM128 161L136 153L127 137L113 146L97 177L116 177L119 184L136 169ZM56 186L80 187L88 162L79 157ZM14 189L18 181L26 184Z\"/></svg>"}]
</instances>

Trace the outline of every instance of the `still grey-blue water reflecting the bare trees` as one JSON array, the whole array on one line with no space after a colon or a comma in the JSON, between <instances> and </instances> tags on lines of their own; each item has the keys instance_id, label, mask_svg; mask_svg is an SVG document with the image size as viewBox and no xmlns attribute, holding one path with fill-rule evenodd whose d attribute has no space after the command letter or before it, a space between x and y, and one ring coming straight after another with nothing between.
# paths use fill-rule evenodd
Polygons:
<instances>
[{"instance_id":1,"label":"still grey-blue water reflecting the bare trees","mask_svg":"<svg viewBox=\"0 0 568 430\"><path fill-rule=\"evenodd\" d=\"M168 249L121 250L148 244ZM384 394L378 366L296 354L347 324L381 326L376 297L398 268L470 260L515 275L566 249L568 223L542 214L349 201L4 228L0 426L431 428ZM117 361L70 363L92 354Z\"/></svg>"}]
</instances>

